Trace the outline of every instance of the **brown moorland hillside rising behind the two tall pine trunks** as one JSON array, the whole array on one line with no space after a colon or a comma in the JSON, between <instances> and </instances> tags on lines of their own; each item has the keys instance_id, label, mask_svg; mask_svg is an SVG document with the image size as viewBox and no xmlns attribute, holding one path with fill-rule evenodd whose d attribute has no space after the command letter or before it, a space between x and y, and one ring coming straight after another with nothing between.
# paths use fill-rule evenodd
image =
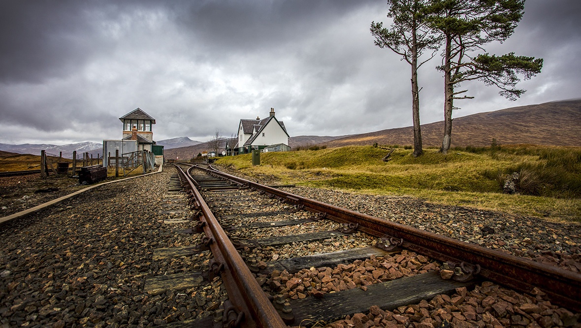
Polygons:
<instances>
[{"instance_id":1,"label":"brown moorland hillside rising behind the two tall pine trunks","mask_svg":"<svg viewBox=\"0 0 581 328\"><path fill-rule=\"evenodd\" d=\"M422 125L424 147L442 145L444 122ZM451 145L535 144L581 146L581 99L547 102L458 117L452 123ZM413 145L412 127L381 130L340 138L324 145Z\"/></svg>"}]
</instances>

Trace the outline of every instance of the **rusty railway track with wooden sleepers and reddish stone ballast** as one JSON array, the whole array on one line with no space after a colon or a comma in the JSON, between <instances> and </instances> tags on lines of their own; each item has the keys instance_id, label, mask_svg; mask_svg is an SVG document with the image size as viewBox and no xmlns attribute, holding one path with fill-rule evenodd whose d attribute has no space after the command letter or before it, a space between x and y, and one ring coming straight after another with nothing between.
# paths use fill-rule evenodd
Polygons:
<instances>
[{"instance_id":1,"label":"rusty railway track with wooden sleepers and reddish stone ballast","mask_svg":"<svg viewBox=\"0 0 581 328\"><path fill-rule=\"evenodd\" d=\"M460 326L457 314L464 322L489 319L490 305L475 300L479 293L485 298L490 288L497 290L496 284L511 291L500 293L504 301L496 302L494 311L512 313L510 320L496 323L546 323L548 319L537 318L546 318L540 311L530 310L541 295L571 311L581 309L577 273L323 204L211 167L180 170L196 211L191 232L205 233L202 244L214 255L210 272L223 277L228 291L229 302L214 323L310 326L348 315L352 322L371 317L377 326L407 326L410 318L427 318L428 309L445 308L424 323ZM304 255L304 248L318 254ZM446 294L453 297L442 296ZM448 311L446 302L457 312ZM370 315L363 318L362 312ZM578 319L567 311L553 323ZM493 319L488 322L494 326ZM205 325L214 323L206 320Z\"/></svg>"}]
</instances>

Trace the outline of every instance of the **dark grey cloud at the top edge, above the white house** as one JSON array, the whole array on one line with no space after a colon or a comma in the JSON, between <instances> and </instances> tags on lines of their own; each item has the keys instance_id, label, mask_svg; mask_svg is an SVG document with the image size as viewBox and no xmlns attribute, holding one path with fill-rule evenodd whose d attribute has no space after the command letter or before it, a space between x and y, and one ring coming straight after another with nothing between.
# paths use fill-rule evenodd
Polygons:
<instances>
[{"instance_id":1,"label":"dark grey cloud at the top edge, above the white house","mask_svg":"<svg viewBox=\"0 0 581 328\"><path fill-rule=\"evenodd\" d=\"M193 2L178 22L224 51L268 51L301 40L371 1Z\"/></svg>"}]
</instances>

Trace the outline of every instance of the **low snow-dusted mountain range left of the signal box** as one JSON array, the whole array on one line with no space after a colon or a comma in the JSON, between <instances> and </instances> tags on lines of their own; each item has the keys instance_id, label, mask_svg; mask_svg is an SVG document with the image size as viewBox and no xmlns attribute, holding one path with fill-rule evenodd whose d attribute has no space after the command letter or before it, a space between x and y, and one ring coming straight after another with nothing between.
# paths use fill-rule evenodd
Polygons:
<instances>
[{"instance_id":1,"label":"low snow-dusted mountain range left of the signal box","mask_svg":"<svg viewBox=\"0 0 581 328\"><path fill-rule=\"evenodd\" d=\"M66 154L72 154L73 151L77 152L77 156L82 156L81 153L88 152L93 156L103 155L103 144L98 144L97 142L78 142L77 144L66 144L66 145L51 145L51 144L20 144L20 145L10 145L10 144L0 144L0 150L8 152L16 152L18 154L31 154L40 155L41 151L44 150L51 155L59 155L59 152Z\"/></svg>"}]
</instances>

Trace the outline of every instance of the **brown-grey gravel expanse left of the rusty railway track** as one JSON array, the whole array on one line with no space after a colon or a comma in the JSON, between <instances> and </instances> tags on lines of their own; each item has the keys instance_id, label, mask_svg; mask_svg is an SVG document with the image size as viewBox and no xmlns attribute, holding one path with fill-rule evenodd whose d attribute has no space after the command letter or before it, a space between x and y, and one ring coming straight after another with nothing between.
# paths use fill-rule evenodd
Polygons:
<instances>
[{"instance_id":1,"label":"brown-grey gravel expanse left of the rusty railway track","mask_svg":"<svg viewBox=\"0 0 581 328\"><path fill-rule=\"evenodd\" d=\"M165 224L180 214L173 167L102 186L0 227L0 327L149 327L211 315L221 281L144 293L145 280L207 266L210 252L153 261L155 248L195 244L199 235ZM187 213L181 216L188 215Z\"/></svg>"}]
</instances>

